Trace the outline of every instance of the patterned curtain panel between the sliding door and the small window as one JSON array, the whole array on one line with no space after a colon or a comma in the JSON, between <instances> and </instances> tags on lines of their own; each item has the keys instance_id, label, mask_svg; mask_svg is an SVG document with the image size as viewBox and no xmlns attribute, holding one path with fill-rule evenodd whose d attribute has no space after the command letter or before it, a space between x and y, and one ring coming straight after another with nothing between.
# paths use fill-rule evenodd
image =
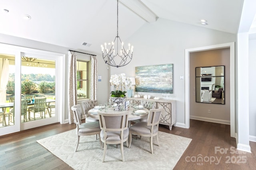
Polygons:
<instances>
[{"instance_id":1,"label":"patterned curtain panel between the sliding door and the small window","mask_svg":"<svg viewBox=\"0 0 256 170\"><path fill-rule=\"evenodd\" d=\"M74 123L74 114L71 109L77 103L76 89L76 52L68 52L68 123Z\"/></svg>"}]
</instances>

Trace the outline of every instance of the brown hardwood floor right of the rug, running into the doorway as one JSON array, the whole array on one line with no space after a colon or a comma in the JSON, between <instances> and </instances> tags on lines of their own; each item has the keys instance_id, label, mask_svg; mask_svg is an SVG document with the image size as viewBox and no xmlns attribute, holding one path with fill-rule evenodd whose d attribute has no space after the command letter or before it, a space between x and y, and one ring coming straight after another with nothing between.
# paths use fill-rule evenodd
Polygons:
<instances>
[{"instance_id":1,"label":"brown hardwood floor right of the rug, running into the doorway","mask_svg":"<svg viewBox=\"0 0 256 170\"><path fill-rule=\"evenodd\" d=\"M172 127L172 131L168 131L161 127L160 131L192 139L174 170L252 170L256 167L256 143L250 142L252 153L236 150L230 125L190 119L189 129Z\"/></svg>"}]
</instances>

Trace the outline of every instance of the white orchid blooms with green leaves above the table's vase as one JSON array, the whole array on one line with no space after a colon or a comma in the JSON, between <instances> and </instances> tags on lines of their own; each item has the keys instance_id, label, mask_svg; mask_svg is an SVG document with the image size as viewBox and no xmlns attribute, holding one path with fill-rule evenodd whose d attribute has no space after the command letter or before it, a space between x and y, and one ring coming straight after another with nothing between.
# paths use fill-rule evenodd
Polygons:
<instances>
[{"instance_id":1,"label":"white orchid blooms with green leaves above the table's vase","mask_svg":"<svg viewBox=\"0 0 256 170\"><path fill-rule=\"evenodd\" d=\"M124 97L126 91L122 91L122 88L125 89L126 84L129 89L132 89L132 81L130 78L126 78L124 73L111 75L109 82L110 86L114 85L114 91L111 92L111 97Z\"/></svg>"}]
</instances>

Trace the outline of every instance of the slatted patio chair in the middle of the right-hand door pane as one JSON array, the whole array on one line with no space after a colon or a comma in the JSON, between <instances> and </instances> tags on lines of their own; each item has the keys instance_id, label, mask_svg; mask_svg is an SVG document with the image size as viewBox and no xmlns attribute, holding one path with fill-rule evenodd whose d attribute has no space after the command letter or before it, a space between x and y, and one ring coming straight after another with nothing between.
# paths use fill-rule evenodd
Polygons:
<instances>
[{"instance_id":1,"label":"slatted patio chair in the middle of the right-hand door pane","mask_svg":"<svg viewBox=\"0 0 256 170\"><path fill-rule=\"evenodd\" d=\"M36 98L34 102L34 106L28 107L28 118L30 119L30 112L34 113L34 120L36 120L36 113L40 113L40 117L45 118L46 111L46 98Z\"/></svg>"}]
</instances>

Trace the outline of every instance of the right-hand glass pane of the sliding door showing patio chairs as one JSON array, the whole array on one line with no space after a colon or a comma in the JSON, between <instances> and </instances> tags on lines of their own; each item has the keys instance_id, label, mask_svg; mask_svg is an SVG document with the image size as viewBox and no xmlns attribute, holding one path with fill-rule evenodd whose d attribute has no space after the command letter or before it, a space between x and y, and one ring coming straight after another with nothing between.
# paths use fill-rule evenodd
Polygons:
<instances>
[{"instance_id":1,"label":"right-hand glass pane of the sliding door showing patio chairs","mask_svg":"<svg viewBox=\"0 0 256 170\"><path fill-rule=\"evenodd\" d=\"M55 84L56 61L49 56L22 53L21 55L21 127L30 129L38 124L58 121ZM27 109L25 109L27 108Z\"/></svg>"}]
</instances>

